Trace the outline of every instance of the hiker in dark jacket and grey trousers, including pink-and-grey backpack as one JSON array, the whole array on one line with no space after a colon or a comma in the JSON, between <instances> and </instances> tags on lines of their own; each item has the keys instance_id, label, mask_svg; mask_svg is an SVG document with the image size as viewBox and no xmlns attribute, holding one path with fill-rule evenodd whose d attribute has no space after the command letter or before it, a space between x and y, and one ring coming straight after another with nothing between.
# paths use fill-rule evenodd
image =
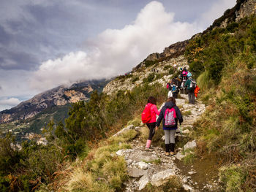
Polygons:
<instances>
[{"instance_id":1,"label":"hiker in dark jacket and grey trousers, including pink-and-grey backpack","mask_svg":"<svg viewBox=\"0 0 256 192\"><path fill-rule=\"evenodd\" d=\"M170 97L167 99L164 107L157 118L156 129L159 128L162 120L162 128L165 131L165 155L174 155L175 134L178 128L178 122L181 125L183 118L181 111L176 106L176 99Z\"/></svg>"}]
</instances>

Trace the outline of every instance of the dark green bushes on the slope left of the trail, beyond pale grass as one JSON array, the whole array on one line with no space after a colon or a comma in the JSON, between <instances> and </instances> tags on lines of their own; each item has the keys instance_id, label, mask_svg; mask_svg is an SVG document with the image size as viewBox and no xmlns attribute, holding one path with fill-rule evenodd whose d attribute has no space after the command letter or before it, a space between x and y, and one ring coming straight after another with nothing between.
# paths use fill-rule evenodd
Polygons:
<instances>
[{"instance_id":1,"label":"dark green bushes on the slope left of the trail, beyond pale grass","mask_svg":"<svg viewBox=\"0 0 256 192\"><path fill-rule=\"evenodd\" d=\"M61 166L77 157L86 157L100 139L107 138L138 115L148 96L155 96L162 102L166 94L159 84L149 86L148 83L127 93L118 91L113 96L95 91L89 102L72 104L65 124L50 121L45 126L47 146L23 142L22 150L15 150L11 134L1 138L1 191L31 191L42 183L52 183ZM120 188L120 185L112 188Z\"/></svg>"}]
</instances>

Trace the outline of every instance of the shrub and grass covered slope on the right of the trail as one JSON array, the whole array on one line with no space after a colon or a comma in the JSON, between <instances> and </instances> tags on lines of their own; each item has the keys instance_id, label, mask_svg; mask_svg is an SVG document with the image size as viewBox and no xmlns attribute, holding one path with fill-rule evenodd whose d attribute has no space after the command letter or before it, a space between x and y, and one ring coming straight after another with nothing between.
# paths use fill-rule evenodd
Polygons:
<instances>
[{"instance_id":1,"label":"shrub and grass covered slope on the right of the trail","mask_svg":"<svg viewBox=\"0 0 256 192\"><path fill-rule=\"evenodd\" d=\"M195 123L200 153L216 153L225 191L254 191L256 183L256 18L244 18L192 39L190 70L203 88L206 113Z\"/></svg>"}]
</instances>

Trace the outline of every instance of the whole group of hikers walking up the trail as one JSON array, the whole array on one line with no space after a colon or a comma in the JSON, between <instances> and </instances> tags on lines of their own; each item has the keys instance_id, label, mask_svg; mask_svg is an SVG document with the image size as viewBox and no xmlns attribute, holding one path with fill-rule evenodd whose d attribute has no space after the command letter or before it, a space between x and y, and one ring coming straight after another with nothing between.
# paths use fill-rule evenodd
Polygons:
<instances>
[{"instance_id":1,"label":"whole group of hikers walking up the trail","mask_svg":"<svg viewBox=\"0 0 256 192\"><path fill-rule=\"evenodd\" d=\"M154 96L150 96L148 98L148 104L146 104L146 107L142 112L141 119L143 123L146 123L149 129L146 150L151 150L152 138L162 121L162 127L165 132L165 155L175 154L175 134L178 128L178 123L181 125L183 122L181 111L176 106L178 93L179 91L187 91L189 103L195 104L195 96L197 96L200 89L196 85L195 80L192 79L191 72L188 72L186 68L181 68L179 70L181 71L181 74L167 83L169 92L167 101L162 109L160 111L157 110L157 99L154 98ZM159 116L158 118L157 115Z\"/></svg>"}]
</instances>

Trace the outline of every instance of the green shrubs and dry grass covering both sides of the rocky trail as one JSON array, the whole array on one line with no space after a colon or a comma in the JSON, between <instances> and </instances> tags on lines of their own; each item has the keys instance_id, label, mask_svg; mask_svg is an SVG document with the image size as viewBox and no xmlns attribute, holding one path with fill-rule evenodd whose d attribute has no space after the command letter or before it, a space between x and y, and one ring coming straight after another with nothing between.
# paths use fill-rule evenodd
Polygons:
<instances>
[{"instance_id":1,"label":"green shrubs and dry grass covering both sides of the rocky trail","mask_svg":"<svg viewBox=\"0 0 256 192\"><path fill-rule=\"evenodd\" d=\"M207 105L193 126L196 156L218 157L220 191L256 188L255 53L255 16L190 39L185 51L202 90L200 100ZM137 72L162 64L148 61ZM129 148L137 133L110 136L129 123L140 125L138 117L148 96L155 96L157 104L165 101L167 90L157 81L176 71L169 64L161 69L162 74L129 74L113 81L139 81L131 91L95 91L90 101L72 104L64 123L50 121L45 126L46 146L23 142L22 150L15 150L12 134L1 137L0 191L121 191L126 165L113 152Z\"/></svg>"}]
</instances>

